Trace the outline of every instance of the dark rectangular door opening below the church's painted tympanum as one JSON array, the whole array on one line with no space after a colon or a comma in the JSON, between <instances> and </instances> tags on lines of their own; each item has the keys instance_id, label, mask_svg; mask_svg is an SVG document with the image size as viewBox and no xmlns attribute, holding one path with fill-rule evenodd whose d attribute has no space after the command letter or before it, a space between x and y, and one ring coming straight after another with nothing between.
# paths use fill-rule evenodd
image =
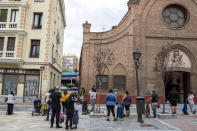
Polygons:
<instances>
[{"instance_id":1,"label":"dark rectangular door opening below the church's painted tympanum","mask_svg":"<svg viewBox=\"0 0 197 131\"><path fill-rule=\"evenodd\" d=\"M184 103L190 91L190 73L182 71L166 72L166 100L168 100L168 94L173 87L179 92L179 103Z\"/></svg>"}]
</instances>

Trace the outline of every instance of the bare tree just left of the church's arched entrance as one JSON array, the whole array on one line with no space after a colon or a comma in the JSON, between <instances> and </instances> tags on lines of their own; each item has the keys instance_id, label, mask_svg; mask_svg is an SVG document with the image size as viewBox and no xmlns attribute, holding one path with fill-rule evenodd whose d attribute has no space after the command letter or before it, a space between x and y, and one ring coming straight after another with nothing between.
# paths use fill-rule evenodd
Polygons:
<instances>
[{"instance_id":1,"label":"bare tree just left of the church's arched entrance","mask_svg":"<svg viewBox=\"0 0 197 131\"><path fill-rule=\"evenodd\" d=\"M163 46L161 50L156 55L155 59L155 70L160 72L161 79L163 83L163 96L164 96L164 102L163 102L163 113L165 113L165 101L166 101L166 84L169 80L172 79L173 73L171 71L168 71L169 69L169 62L170 62L170 52L173 50L171 44L167 42L167 45ZM172 64L173 68L173 64Z\"/></svg>"}]
</instances>

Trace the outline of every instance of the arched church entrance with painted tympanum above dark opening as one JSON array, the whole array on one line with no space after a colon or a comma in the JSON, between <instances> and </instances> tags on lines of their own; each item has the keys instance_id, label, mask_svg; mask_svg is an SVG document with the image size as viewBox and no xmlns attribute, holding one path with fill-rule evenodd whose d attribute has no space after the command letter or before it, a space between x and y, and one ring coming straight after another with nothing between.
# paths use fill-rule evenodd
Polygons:
<instances>
[{"instance_id":1,"label":"arched church entrance with painted tympanum above dark opening","mask_svg":"<svg viewBox=\"0 0 197 131\"><path fill-rule=\"evenodd\" d=\"M179 92L179 103L184 103L190 91L191 62L188 56L179 49L172 50L168 59L168 70L165 73L166 100L168 100L169 92L175 87Z\"/></svg>"}]
</instances>

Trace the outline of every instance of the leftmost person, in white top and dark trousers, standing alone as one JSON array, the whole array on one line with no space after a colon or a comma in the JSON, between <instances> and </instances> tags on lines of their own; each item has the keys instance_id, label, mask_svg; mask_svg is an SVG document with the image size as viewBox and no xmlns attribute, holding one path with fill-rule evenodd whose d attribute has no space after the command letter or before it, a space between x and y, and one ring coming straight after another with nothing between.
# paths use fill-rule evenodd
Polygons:
<instances>
[{"instance_id":1,"label":"leftmost person, in white top and dark trousers, standing alone","mask_svg":"<svg viewBox=\"0 0 197 131\"><path fill-rule=\"evenodd\" d=\"M13 114L13 109L14 109L14 92L11 91L10 94L8 94L8 100L7 100L7 114L12 115Z\"/></svg>"}]
</instances>

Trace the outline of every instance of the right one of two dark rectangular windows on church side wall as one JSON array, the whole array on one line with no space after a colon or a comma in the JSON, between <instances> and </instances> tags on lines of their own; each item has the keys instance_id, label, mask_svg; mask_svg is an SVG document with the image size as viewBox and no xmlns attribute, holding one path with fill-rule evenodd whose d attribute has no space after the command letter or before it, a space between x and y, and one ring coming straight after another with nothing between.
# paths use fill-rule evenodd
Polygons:
<instances>
[{"instance_id":1,"label":"right one of two dark rectangular windows on church side wall","mask_svg":"<svg viewBox=\"0 0 197 131\"><path fill-rule=\"evenodd\" d=\"M114 76L114 89L124 90L126 78L124 75L115 75Z\"/></svg>"}]
</instances>

